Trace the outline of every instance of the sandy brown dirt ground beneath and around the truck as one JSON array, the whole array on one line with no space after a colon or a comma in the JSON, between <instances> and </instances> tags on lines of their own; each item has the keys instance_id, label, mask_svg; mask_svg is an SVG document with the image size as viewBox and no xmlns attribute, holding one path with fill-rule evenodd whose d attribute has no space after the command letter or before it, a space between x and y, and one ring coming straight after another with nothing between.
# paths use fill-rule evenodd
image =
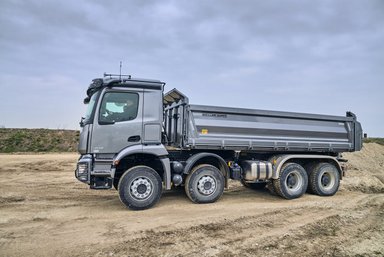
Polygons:
<instances>
[{"instance_id":1,"label":"sandy brown dirt ground beneath and around the truck","mask_svg":"<svg viewBox=\"0 0 384 257\"><path fill-rule=\"evenodd\" d=\"M130 211L74 178L77 154L0 155L0 256L384 256L384 146L349 159L333 197L237 182L214 204L165 192Z\"/></svg>"}]
</instances>

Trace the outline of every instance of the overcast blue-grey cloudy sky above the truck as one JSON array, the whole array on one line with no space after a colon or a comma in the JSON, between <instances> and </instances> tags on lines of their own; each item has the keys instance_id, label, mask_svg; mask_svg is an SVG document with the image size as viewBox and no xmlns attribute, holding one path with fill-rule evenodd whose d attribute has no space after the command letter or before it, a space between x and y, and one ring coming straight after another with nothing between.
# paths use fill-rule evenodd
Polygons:
<instances>
[{"instance_id":1,"label":"overcast blue-grey cloudy sky above the truck","mask_svg":"<svg viewBox=\"0 0 384 257\"><path fill-rule=\"evenodd\" d=\"M103 72L191 103L345 115L384 136L383 0L1 0L0 126L79 129Z\"/></svg>"}]
</instances>

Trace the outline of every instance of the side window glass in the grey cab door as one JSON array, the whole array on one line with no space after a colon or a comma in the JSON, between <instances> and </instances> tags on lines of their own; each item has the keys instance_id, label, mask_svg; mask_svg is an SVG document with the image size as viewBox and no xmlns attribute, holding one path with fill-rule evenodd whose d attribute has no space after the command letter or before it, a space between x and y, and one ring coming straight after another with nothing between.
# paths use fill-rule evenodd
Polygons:
<instances>
[{"instance_id":1,"label":"side window glass in the grey cab door","mask_svg":"<svg viewBox=\"0 0 384 257\"><path fill-rule=\"evenodd\" d=\"M127 92L104 94L99 112L100 124L134 120L137 117L139 95Z\"/></svg>"}]
</instances>

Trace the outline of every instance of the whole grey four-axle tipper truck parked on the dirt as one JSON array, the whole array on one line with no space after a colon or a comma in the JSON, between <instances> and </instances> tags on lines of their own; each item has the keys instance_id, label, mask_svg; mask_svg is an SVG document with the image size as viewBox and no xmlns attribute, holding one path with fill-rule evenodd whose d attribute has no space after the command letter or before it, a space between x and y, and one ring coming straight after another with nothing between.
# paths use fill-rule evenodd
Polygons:
<instances>
[{"instance_id":1,"label":"whole grey four-axle tipper truck parked on the dirt","mask_svg":"<svg viewBox=\"0 0 384 257\"><path fill-rule=\"evenodd\" d=\"M118 190L130 209L155 205L164 190L184 187L212 203L228 180L268 187L294 199L334 195L342 152L362 148L356 116L345 117L189 104L165 83L104 74L87 90L75 171L91 189Z\"/></svg>"}]
</instances>

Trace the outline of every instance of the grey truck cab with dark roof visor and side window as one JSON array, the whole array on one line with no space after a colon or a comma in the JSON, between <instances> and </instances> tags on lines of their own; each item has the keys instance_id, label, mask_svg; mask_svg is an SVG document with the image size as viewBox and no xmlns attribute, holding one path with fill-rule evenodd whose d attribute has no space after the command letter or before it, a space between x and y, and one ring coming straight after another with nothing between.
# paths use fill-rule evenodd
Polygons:
<instances>
[{"instance_id":1,"label":"grey truck cab with dark roof visor and side window","mask_svg":"<svg viewBox=\"0 0 384 257\"><path fill-rule=\"evenodd\" d=\"M93 189L117 188L116 164L128 155L147 153L159 160L162 169L169 169L169 159L163 158L168 153L161 144L164 85L159 80L109 74L92 81L80 122L78 180Z\"/></svg>"}]
</instances>

